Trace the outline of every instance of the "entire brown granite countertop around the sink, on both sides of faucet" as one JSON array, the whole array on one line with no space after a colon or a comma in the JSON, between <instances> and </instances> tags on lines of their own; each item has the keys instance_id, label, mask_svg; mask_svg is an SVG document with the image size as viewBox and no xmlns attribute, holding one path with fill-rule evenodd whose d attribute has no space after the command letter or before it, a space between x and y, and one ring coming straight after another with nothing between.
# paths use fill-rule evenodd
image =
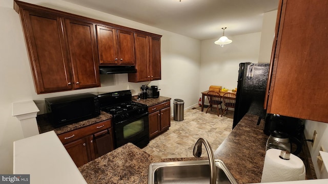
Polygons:
<instances>
[{"instance_id":1,"label":"entire brown granite countertop around the sink, on both sides of faucet","mask_svg":"<svg viewBox=\"0 0 328 184\"><path fill-rule=\"evenodd\" d=\"M238 183L261 181L268 136L263 133L261 125L256 125L257 120L257 116L246 114L214 153L216 159L226 164ZM309 151L303 149L303 152ZM147 183L151 163L199 159L208 158L160 159L128 143L81 166L79 170L88 183ZM304 154L303 161L307 179L315 179L311 157Z\"/></svg>"}]
</instances>

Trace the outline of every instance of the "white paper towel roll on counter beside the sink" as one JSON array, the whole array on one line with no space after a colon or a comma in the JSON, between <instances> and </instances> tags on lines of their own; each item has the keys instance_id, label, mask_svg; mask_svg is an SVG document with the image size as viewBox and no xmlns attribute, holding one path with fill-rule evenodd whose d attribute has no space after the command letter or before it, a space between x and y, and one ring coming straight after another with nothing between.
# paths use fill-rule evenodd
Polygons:
<instances>
[{"instance_id":1,"label":"white paper towel roll on counter beside the sink","mask_svg":"<svg viewBox=\"0 0 328 184\"><path fill-rule=\"evenodd\" d=\"M303 161L293 154L289 160L282 159L280 153L279 149L269 149L265 153L261 182L304 180Z\"/></svg>"}]
</instances>

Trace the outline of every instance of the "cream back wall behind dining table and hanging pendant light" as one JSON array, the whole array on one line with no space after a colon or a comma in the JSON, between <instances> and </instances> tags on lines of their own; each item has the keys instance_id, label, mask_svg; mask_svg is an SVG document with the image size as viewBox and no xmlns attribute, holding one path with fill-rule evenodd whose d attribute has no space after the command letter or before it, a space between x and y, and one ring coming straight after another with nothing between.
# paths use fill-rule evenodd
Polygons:
<instances>
[{"instance_id":1,"label":"cream back wall behind dining table and hanging pendant light","mask_svg":"<svg viewBox=\"0 0 328 184\"><path fill-rule=\"evenodd\" d=\"M237 87L239 63L258 62L261 33L228 36L232 43L214 44L216 39L201 41L201 64L199 94L210 85L228 89Z\"/></svg>"}]
</instances>

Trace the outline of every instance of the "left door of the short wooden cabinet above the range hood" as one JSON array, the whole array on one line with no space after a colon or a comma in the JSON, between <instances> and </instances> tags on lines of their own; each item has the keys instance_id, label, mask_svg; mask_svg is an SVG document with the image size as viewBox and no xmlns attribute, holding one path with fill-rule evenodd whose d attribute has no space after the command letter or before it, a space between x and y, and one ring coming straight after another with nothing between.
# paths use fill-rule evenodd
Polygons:
<instances>
[{"instance_id":1,"label":"left door of the short wooden cabinet above the range hood","mask_svg":"<svg viewBox=\"0 0 328 184\"><path fill-rule=\"evenodd\" d=\"M116 30L96 25L100 64L118 64Z\"/></svg>"}]
</instances>

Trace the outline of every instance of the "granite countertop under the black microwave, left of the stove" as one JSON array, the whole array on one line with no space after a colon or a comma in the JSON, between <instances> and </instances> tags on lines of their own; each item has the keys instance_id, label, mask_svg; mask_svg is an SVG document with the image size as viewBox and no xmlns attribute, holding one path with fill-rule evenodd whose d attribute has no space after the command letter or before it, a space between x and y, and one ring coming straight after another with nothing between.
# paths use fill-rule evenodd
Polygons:
<instances>
[{"instance_id":1,"label":"granite countertop under the black microwave, left of the stove","mask_svg":"<svg viewBox=\"0 0 328 184\"><path fill-rule=\"evenodd\" d=\"M88 125L91 125L94 123L109 120L111 118L112 118L111 114L104 112L104 111L100 111L100 115L95 118L91 118L91 119L88 119L85 121L80 121L77 123L73 123L73 124L58 127L58 128L55 128L51 125L50 120L48 118L48 114L41 114L36 117L36 120L37 120L37 126L39 129L39 133L44 133L44 132L54 130L55 133L58 135L58 134L65 133L65 132L75 130L78 128L82 128L82 127L85 127L85 126L88 126Z\"/></svg>"}]
</instances>

